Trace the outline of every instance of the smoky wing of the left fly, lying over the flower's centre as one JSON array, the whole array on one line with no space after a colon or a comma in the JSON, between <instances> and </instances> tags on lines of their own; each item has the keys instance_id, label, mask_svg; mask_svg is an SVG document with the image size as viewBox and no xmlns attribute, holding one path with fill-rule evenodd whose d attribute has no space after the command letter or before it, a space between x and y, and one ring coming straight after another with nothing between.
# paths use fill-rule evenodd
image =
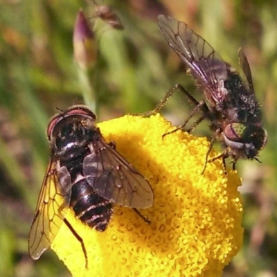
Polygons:
<instances>
[{"instance_id":1,"label":"smoky wing of the left fly, lying over the flower's centre","mask_svg":"<svg viewBox=\"0 0 277 277\"><path fill-rule=\"evenodd\" d=\"M120 206L149 208L153 191L146 179L103 139L91 143L84 176L98 195Z\"/></svg>"}]
</instances>

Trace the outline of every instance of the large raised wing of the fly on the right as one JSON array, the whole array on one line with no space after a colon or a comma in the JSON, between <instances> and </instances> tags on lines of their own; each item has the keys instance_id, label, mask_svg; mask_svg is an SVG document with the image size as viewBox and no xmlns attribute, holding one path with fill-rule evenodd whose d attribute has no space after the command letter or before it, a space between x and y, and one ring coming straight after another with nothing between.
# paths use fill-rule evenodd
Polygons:
<instances>
[{"instance_id":1,"label":"large raised wing of the fly on the right","mask_svg":"<svg viewBox=\"0 0 277 277\"><path fill-rule=\"evenodd\" d=\"M219 82L227 78L229 65L186 23L170 17L167 19L164 15L159 15L158 20L161 33L191 74L204 89L216 94Z\"/></svg>"}]
</instances>

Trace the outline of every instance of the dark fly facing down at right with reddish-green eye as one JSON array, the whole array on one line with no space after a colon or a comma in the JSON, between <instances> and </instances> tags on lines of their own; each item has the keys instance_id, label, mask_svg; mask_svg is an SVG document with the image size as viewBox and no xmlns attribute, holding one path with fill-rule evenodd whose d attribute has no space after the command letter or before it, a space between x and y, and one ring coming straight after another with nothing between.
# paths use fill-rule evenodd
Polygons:
<instances>
[{"instance_id":1,"label":"dark fly facing down at right with reddish-green eye","mask_svg":"<svg viewBox=\"0 0 277 277\"><path fill-rule=\"evenodd\" d=\"M186 23L163 15L159 15L158 19L161 33L204 93L204 98L197 101L177 84L161 101L162 105L175 89L181 89L195 105L188 119L197 111L202 111L202 117L193 127L204 118L210 120L211 129L215 132L213 141L217 139L223 147L219 157L231 157L233 165L240 158L258 160L258 152L267 142L267 132L262 127L260 105L254 94L249 62L243 51L240 49L239 57L245 80ZM182 129L187 122L181 126Z\"/></svg>"}]
</instances>

